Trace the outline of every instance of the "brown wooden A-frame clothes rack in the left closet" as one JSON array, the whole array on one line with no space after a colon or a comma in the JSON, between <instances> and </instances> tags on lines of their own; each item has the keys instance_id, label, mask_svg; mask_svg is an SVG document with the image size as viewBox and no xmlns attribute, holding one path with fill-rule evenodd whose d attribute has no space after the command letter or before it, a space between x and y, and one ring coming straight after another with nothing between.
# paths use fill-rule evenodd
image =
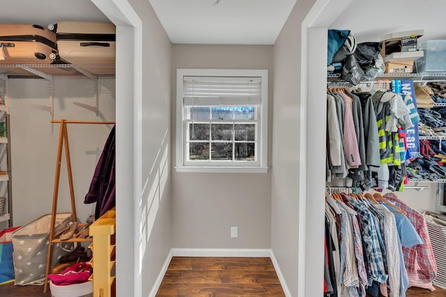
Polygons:
<instances>
[{"instance_id":1,"label":"brown wooden A-frame clothes rack in the left closet","mask_svg":"<svg viewBox=\"0 0 446 297\"><path fill-rule=\"evenodd\" d=\"M47 292L48 286L48 275L51 271L51 260L53 254L53 243L60 243L61 240L59 236L62 232L54 234L54 228L56 225L56 214L57 214L57 200L59 198L59 181L61 177L61 161L62 161L62 149L63 143L65 143L65 157L66 165L68 170L68 185L70 186L70 200L71 200L71 211L72 211L72 221L77 222L76 215L76 201L75 201L75 190L72 182L72 172L71 172L71 159L70 159L70 145L68 144L68 131L67 124L107 124L114 125L115 122L90 122L90 121L68 121L68 120L52 120L52 123L60 123L59 131L59 145L57 148L57 159L56 159L56 174L54 175L54 191L53 191L53 206L51 210L51 225L49 226L49 245L47 251L47 267L45 269L45 283L43 285L43 292ZM69 239L63 242L91 242L92 239Z\"/></svg>"}]
</instances>

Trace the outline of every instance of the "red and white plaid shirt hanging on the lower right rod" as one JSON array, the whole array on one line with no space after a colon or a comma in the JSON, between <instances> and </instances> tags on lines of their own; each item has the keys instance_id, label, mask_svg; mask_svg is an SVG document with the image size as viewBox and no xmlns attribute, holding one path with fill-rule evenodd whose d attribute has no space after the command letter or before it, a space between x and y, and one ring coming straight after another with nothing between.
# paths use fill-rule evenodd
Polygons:
<instances>
[{"instance_id":1,"label":"red and white plaid shirt hanging on the lower right rod","mask_svg":"<svg viewBox=\"0 0 446 297\"><path fill-rule=\"evenodd\" d=\"M429 231L427 230L424 216L408 207L394 193L387 193L384 195L384 198L406 211L407 218L424 241L423 244L417 244L411 248L403 247L404 262L406 262L408 273L410 275L415 273L421 282L430 282L436 276L437 264L433 256L431 239L429 238Z\"/></svg>"}]
</instances>

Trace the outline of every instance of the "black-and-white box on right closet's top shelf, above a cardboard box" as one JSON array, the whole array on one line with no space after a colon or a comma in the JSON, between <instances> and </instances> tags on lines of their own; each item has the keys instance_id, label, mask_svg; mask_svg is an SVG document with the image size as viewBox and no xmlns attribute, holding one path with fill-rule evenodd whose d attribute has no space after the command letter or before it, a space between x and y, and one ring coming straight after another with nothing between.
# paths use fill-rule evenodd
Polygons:
<instances>
[{"instance_id":1,"label":"black-and-white box on right closet's top shelf, above a cardboard box","mask_svg":"<svg viewBox=\"0 0 446 297\"><path fill-rule=\"evenodd\" d=\"M424 30L402 31L381 36L383 57L392 53L417 51L417 40L422 37Z\"/></svg>"}]
</instances>

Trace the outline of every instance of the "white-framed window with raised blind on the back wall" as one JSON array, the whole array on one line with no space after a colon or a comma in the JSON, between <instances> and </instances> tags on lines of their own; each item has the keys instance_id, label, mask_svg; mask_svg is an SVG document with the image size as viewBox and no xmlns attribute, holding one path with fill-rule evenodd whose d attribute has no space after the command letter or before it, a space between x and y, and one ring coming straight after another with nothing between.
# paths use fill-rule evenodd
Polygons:
<instances>
[{"instance_id":1,"label":"white-framed window with raised blind on the back wall","mask_svg":"<svg viewBox=\"0 0 446 297\"><path fill-rule=\"evenodd\" d=\"M177 70L176 170L266 172L268 70Z\"/></svg>"}]
</instances>

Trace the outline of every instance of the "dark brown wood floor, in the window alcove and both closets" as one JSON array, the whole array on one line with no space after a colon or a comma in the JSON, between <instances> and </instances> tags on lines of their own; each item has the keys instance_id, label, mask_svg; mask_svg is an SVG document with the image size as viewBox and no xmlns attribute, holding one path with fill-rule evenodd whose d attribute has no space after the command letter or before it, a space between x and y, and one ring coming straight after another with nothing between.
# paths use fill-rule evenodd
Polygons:
<instances>
[{"instance_id":1,"label":"dark brown wood floor, in the window alcove and both closets","mask_svg":"<svg viewBox=\"0 0 446 297\"><path fill-rule=\"evenodd\" d=\"M51 297L43 286L0 286L0 297ZM269 258L173 257L157 297L284 296ZM407 297L445 297L446 290L410 288Z\"/></svg>"}]
</instances>

